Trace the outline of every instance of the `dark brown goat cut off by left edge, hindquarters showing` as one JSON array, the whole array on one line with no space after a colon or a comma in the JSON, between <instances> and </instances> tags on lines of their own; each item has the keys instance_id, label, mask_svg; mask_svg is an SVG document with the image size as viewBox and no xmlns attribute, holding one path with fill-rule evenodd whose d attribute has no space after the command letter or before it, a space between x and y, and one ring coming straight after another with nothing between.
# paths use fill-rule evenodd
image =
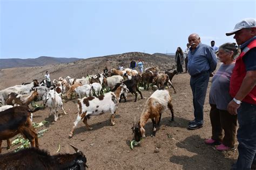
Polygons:
<instances>
[{"instance_id":1,"label":"dark brown goat cut off by left edge, hindquarters showing","mask_svg":"<svg viewBox=\"0 0 256 170\"><path fill-rule=\"evenodd\" d=\"M29 139L32 147L38 147L38 138L30 119L28 106L17 106L0 112L0 153L2 140L7 140L21 133ZM0 168L1 169L1 168Z\"/></svg>"}]
</instances>

